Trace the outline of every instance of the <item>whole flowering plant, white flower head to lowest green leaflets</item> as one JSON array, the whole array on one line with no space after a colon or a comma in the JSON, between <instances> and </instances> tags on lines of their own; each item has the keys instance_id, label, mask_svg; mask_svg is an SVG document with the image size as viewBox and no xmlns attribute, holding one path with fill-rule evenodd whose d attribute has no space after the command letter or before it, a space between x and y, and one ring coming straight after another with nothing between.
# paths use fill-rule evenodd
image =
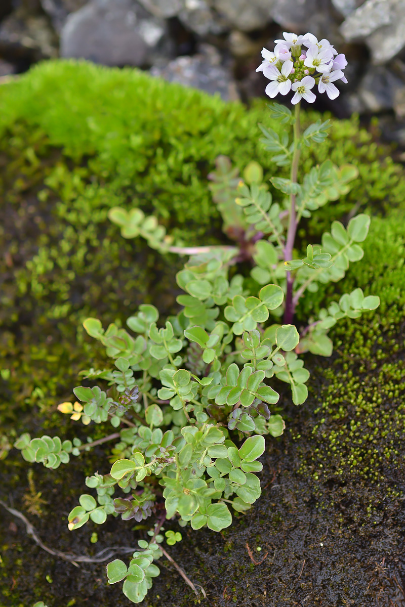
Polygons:
<instances>
[{"instance_id":1,"label":"whole flowering plant, white flower head to lowest green leaflets","mask_svg":"<svg viewBox=\"0 0 405 607\"><path fill-rule=\"evenodd\" d=\"M165 520L220 532L232 523L232 513L246 512L260 497L264 435L279 436L285 427L274 380L288 384L294 404L304 403L309 372L299 354L330 356L330 328L379 305L378 297L355 288L320 311L309 309L302 326L294 324L305 293L338 282L350 263L361 260L370 226L366 214L347 225L333 221L320 244L308 244L301 254L296 248L301 219L335 200L339 188L347 192L358 174L353 166L325 160L298 178L303 147L318 148L330 126L318 120L301 132L301 98L313 101L316 83L319 92L336 96L332 82L345 80L344 56L333 59L336 54L311 34L285 33L274 53L264 49L259 69L272 81L268 94L293 90L295 107L292 114L271 104L271 118L284 131L260 125L260 141L277 167L290 167L290 177L271 178L270 190L256 161L239 177L219 158L211 191L232 245L185 247L154 215L138 208L109 211L125 239L142 237L162 255L189 257L176 275L183 291L177 297L180 311L161 319L157 308L141 304L126 328L115 323L104 328L94 317L84 321L111 363L83 371L87 383L96 385L74 388L76 400L58 409L86 425L111 424L115 432L84 444L25 433L15 443L26 461L56 468L72 455L115 441L100 463L102 472L87 476L93 495L80 496L68 527L73 531L89 520L103 524L110 515L138 522L157 517L149 540L138 541L128 564L115 559L107 565L108 582L123 581L123 592L134 603L145 598L160 573L154 561L171 558L160 533ZM274 202L273 191L280 202ZM246 261L250 272L238 273ZM305 305L311 306L308 298ZM181 539L179 532L166 532L169 545Z\"/></svg>"}]
</instances>

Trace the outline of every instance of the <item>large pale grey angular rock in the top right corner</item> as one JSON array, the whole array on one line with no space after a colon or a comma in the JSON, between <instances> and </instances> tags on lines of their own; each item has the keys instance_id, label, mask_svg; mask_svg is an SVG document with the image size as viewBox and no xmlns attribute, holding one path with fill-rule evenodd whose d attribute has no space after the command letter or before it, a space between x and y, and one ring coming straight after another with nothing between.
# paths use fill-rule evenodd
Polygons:
<instances>
[{"instance_id":1,"label":"large pale grey angular rock in the top right corner","mask_svg":"<svg viewBox=\"0 0 405 607\"><path fill-rule=\"evenodd\" d=\"M386 63L405 47L404 0L367 0L341 25L346 40L364 39L375 64Z\"/></svg>"}]
</instances>

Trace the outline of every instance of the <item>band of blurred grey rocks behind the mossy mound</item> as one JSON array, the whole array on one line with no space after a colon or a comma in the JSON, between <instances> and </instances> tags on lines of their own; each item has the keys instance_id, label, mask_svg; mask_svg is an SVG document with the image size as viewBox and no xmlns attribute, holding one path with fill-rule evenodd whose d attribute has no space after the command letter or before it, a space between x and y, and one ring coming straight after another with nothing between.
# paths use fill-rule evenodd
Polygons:
<instances>
[{"instance_id":1,"label":"band of blurred grey rocks behind the mossy mound","mask_svg":"<svg viewBox=\"0 0 405 607\"><path fill-rule=\"evenodd\" d=\"M267 83L260 50L284 30L328 38L349 60L349 84L317 109L379 115L405 145L405 0L1 0L0 77L84 58L248 103Z\"/></svg>"}]
</instances>

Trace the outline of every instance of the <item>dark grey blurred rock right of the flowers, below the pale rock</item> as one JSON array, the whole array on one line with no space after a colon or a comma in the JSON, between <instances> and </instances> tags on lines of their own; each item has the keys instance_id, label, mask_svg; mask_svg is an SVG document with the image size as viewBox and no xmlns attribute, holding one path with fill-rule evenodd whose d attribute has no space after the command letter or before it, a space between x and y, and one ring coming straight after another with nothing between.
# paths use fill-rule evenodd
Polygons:
<instances>
[{"instance_id":1,"label":"dark grey blurred rock right of the flowers, below the pale rock","mask_svg":"<svg viewBox=\"0 0 405 607\"><path fill-rule=\"evenodd\" d=\"M384 66L371 66L355 93L347 95L350 110L376 114L391 110L403 95L404 82Z\"/></svg>"}]
</instances>

